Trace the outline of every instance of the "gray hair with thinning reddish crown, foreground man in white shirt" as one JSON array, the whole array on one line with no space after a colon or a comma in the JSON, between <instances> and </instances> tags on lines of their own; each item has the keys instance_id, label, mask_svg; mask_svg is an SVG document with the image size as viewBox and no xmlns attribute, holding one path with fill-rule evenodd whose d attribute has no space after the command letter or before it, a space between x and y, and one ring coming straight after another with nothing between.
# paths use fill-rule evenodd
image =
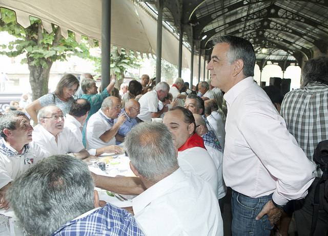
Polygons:
<instances>
[{"instance_id":1,"label":"gray hair with thinning reddish crown, foreground man in white shirt","mask_svg":"<svg viewBox=\"0 0 328 236\"><path fill-rule=\"evenodd\" d=\"M140 123L125 137L132 165L145 179L158 182L178 168L171 132L162 123Z\"/></svg>"}]
</instances>

